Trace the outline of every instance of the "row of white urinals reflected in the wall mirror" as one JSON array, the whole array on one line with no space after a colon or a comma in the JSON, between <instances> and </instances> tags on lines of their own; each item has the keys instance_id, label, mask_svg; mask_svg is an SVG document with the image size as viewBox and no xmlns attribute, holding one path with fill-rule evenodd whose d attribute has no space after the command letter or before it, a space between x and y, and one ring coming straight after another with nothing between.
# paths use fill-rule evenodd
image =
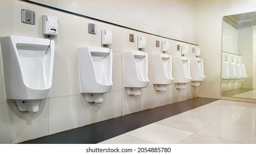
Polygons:
<instances>
[{"instance_id":1,"label":"row of white urinals reflected in the wall mirror","mask_svg":"<svg viewBox=\"0 0 256 155\"><path fill-rule=\"evenodd\" d=\"M246 74L245 65L222 61L222 82L240 82L244 81L248 75Z\"/></svg>"}]
</instances>

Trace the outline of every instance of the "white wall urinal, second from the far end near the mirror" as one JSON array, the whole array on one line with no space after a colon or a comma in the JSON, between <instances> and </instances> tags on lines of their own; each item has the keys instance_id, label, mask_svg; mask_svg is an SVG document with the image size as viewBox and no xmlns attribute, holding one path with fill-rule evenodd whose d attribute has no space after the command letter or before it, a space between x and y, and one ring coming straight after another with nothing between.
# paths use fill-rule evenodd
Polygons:
<instances>
[{"instance_id":1,"label":"white wall urinal, second from the far end near the mirror","mask_svg":"<svg viewBox=\"0 0 256 155\"><path fill-rule=\"evenodd\" d=\"M177 89L186 89L186 84L192 81L190 76L190 59L185 56L173 58L173 77Z\"/></svg>"}]
</instances>

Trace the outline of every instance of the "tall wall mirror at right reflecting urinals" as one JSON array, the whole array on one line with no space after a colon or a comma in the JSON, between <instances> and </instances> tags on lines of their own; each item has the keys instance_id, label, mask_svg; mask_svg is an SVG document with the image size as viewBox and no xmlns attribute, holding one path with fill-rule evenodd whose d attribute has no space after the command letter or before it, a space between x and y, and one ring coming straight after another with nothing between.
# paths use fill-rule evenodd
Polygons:
<instances>
[{"instance_id":1,"label":"tall wall mirror at right reflecting urinals","mask_svg":"<svg viewBox=\"0 0 256 155\"><path fill-rule=\"evenodd\" d=\"M222 96L256 99L256 12L223 17Z\"/></svg>"}]
</instances>

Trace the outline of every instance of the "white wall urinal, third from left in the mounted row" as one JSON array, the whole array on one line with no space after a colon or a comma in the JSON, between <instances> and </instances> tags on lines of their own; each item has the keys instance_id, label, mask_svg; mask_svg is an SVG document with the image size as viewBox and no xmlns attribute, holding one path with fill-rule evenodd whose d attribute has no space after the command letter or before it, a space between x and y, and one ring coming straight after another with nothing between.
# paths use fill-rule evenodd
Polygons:
<instances>
[{"instance_id":1,"label":"white wall urinal, third from left in the mounted row","mask_svg":"<svg viewBox=\"0 0 256 155\"><path fill-rule=\"evenodd\" d=\"M129 95L141 95L141 89L149 84L147 78L147 53L145 51L125 50L124 87Z\"/></svg>"}]
</instances>

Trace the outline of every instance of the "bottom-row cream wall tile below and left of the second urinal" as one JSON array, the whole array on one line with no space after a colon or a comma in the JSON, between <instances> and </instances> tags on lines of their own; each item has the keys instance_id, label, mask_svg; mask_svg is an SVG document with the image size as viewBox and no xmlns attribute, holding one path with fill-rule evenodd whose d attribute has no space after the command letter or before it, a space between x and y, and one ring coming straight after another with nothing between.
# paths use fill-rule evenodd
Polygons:
<instances>
[{"instance_id":1,"label":"bottom-row cream wall tile below and left of the second urinal","mask_svg":"<svg viewBox=\"0 0 256 155\"><path fill-rule=\"evenodd\" d=\"M91 123L91 105L82 95L49 99L49 135Z\"/></svg>"}]
</instances>

